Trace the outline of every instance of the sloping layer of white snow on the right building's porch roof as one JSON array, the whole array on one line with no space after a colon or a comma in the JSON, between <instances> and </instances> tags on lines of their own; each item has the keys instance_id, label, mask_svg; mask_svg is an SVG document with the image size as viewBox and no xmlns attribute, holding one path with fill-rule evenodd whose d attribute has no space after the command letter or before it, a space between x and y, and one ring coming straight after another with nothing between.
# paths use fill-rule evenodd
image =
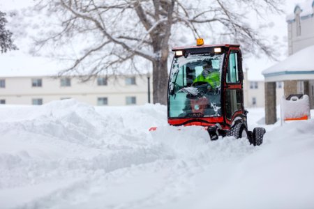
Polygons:
<instances>
[{"instance_id":1,"label":"sloping layer of white snow on the right building's porch roof","mask_svg":"<svg viewBox=\"0 0 314 209\"><path fill-rule=\"evenodd\" d=\"M288 56L287 59L276 63L276 65L263 70L262 74L265 75L274 75L283 72L295 72L300 74L304 72L314 72L314 45L306 47L305 49L300 50L299 52Z\"/></svg>"}]
</instances>

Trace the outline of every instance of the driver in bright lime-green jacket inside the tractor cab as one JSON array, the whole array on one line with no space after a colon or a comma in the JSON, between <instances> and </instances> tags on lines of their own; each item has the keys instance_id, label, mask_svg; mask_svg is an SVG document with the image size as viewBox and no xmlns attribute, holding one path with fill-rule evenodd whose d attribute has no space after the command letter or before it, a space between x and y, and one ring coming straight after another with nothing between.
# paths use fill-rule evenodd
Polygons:
<instances>
[{"instance_id":1,"label":"driver in bright lime-green jacket inside the tractor cab","mask_svg":"<svg viewBox=\"0 0 314 209\"><path fill-rule=\"evenodd\" d=\"M215 90L218 86L220 86L220 73L213 69L211 60L202 61L202 67L202 73L194 79L193 84L196 82L207 82L209 84L207 89L209 91Z\"/></svg>"}]
</instances>

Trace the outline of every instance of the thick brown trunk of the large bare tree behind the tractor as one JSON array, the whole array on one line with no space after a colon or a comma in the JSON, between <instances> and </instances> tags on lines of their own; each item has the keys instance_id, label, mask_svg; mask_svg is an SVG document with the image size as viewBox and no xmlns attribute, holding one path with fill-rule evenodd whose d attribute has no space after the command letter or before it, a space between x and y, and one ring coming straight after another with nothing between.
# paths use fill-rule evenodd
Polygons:
<instances>
[{"instance_id":1,"label":"thick brown trunk of the large bare tree behind the tractor","mask_svg":"<svg viewBox=\"0 0 314 209\"><path fill-rule=\"evenodd\" d=\"M167 104L168 70L167 59L153 62L153 99L154 104Z\"/></svg>"}]
</instances>

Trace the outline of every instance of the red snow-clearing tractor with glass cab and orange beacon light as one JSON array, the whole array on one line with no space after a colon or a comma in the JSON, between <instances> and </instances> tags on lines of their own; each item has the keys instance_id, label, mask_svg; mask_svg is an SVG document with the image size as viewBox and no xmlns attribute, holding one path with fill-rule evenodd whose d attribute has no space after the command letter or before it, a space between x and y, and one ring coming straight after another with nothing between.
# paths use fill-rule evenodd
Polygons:
<instances>
[{"instance_id":1,"label":"red snow-clearing tractor with glass cab and orange beacon light","mask_svg":"<svg viewBox=\"0 0 314 209\"><path fill-rule=\"evenodd\" d=\"M248 131L244 109L242 56L239 45L174 47L167 95L167 118L173 126L197 125L211 140L246 137L260 146L265 130ZM151 128L151 131L158 128Z\"/></svg>"}]
</instances>

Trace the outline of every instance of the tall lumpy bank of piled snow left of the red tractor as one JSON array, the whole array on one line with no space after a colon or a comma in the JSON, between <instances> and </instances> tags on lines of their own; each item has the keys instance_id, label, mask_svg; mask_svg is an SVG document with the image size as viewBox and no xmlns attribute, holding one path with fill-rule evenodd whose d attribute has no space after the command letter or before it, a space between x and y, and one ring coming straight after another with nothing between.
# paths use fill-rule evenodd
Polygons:
<instances>
[{"instance_id":1,"label":"tall lumpy bank of piled snow left of the red tractor","mask_svg":"<svg viewBox=\"0 0 314 209\"><path fill-rule=\"evenodd\" d=\"M0 188L72 180L160 159L160 147L110 109L102 116L87 104L63 100L40 107L1 106L0 112ZM14 203L0 192L1 206Z\"/></svg>"}]
</instances>

